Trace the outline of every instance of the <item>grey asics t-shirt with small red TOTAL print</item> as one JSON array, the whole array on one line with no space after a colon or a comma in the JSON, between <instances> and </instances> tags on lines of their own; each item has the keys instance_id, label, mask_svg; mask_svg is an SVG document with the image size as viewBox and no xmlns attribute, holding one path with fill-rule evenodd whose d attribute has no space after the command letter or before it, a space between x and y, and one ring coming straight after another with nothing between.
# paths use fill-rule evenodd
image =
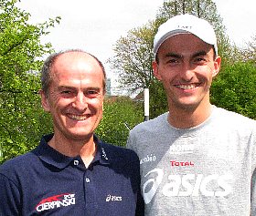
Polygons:
<instances>
[{"instance_id":1,"label":"grey asics t-shirt with small red TOTAL print","mask_svg":"<svg viewBox=\"0 0 256 216\"><path fill-rule=\"evenodd\" d=\"M256 121L214 106L191 129L167 116L136 126L127 142L141 162L145 215L256 215Z\"/></svg>"}]
</instances>

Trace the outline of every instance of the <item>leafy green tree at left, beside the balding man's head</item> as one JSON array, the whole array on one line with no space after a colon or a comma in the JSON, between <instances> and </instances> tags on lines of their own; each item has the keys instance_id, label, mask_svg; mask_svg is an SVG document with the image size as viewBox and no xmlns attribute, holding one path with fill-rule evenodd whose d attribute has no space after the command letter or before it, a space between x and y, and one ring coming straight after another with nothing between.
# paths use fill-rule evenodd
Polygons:
<instances>
[{"instance_id":1,"label":"leafy green tree at left, beside the balding man's head","mask_svg":"<svg viewBox=\"0 0 256 216\"><path fill-rule=\"evenodd\" d=\"M0 0L0 162L33 148L48 127L37 91L41 57L52 51L40 36L59 23L59 17L36 26L16 0Z\"/></svg>"}]
</instances>

